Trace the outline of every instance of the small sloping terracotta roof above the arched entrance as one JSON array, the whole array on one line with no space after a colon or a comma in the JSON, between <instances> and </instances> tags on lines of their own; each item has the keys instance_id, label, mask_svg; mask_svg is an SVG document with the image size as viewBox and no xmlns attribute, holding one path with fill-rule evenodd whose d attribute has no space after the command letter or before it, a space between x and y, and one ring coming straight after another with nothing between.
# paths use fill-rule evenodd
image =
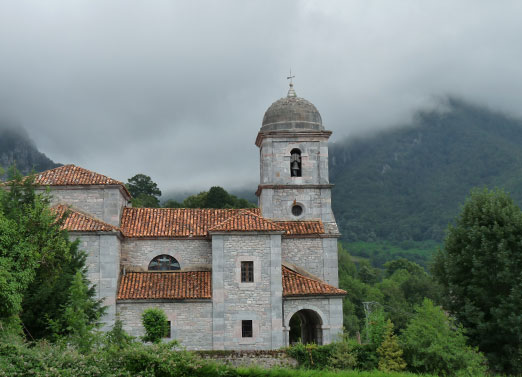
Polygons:
<instances>
[{"instance_id":1,"label":"small sloping terracotta roof above the arched entrance","mask_svg":"<svg viewBox=\"0 0 522 377\"><path fill-rule=\"evenodd\" d=\"M345 295L346 291L335 288L323 281L303 276L286 266L283 271L283 296L323 296L323 295Z\"/></svg>"}]
</instances>

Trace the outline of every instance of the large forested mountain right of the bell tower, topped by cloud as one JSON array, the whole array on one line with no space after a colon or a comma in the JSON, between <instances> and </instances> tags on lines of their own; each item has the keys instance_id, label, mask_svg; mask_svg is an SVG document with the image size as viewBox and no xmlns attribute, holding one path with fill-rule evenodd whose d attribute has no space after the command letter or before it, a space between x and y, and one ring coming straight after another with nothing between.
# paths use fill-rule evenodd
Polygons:
<instances>
[{"instance_id":1,"label":"large forested mountain right of the bell tower, topped by cloud","mask_svg":"<svg viewBox=\"0 0 522 377\"><path fill-rule=\"evenodd\" d=\"M449 99L446 111L334 144L330 178L345 241L441 241L473 187L522 203L522 121Z\"/></svg>"}]
</instances>

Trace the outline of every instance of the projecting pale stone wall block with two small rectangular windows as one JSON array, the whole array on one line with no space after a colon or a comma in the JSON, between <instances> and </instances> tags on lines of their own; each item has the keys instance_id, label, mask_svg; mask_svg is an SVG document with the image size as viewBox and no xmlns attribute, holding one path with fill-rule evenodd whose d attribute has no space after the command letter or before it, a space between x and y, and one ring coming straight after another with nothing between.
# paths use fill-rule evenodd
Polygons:
<instances>
[{"instance_id":1,"label":"projecting pale stone wall block with two small rectangular windows","mask_svg":"<svg viewBox=\"0 0 522 377\"><path fill-rule=\"evenodd\" d=\"M214 349L274 349L282 346L281 236L213 235ZM241 282L241 262L254 262L254 282ZM252 320L253 337L241 333Z\"/></svg>"}]
</instances>

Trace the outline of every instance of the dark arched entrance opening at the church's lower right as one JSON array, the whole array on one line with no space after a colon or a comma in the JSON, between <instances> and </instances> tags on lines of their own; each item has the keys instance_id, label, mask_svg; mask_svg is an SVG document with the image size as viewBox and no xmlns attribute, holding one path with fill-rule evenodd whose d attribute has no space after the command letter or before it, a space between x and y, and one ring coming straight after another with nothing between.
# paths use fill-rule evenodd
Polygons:
<instances>
[{"instance_id":1,"label":"dark arched entrance opening at the church's lower right","mask_svg":"<svg viewBox=\"0 0 522 377\"><path fill-rule=\"evenodd\" d=\"M296 343L323 344L323 321L317 312L311 309L302 309L290 318L290 345Z\"/></svg>"}]
</instances>

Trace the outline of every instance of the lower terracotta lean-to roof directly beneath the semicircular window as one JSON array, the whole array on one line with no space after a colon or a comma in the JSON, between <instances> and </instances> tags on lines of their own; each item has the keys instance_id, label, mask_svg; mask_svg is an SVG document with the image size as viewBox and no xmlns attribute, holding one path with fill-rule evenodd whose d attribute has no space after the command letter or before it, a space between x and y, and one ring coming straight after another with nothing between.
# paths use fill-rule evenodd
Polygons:
<instances>
[{"instance_id":1,"label":"lower terracotta lean-to roof directly beneath the semicircular window","mask_svg":"<svg viewBox=\"0 0 522 377\"><path fill-rule=\"evenodd\" d=\"M128 272L118 288L118 300L197 298L212 298L212 272Z\"/></svg>"}]
</instances>

